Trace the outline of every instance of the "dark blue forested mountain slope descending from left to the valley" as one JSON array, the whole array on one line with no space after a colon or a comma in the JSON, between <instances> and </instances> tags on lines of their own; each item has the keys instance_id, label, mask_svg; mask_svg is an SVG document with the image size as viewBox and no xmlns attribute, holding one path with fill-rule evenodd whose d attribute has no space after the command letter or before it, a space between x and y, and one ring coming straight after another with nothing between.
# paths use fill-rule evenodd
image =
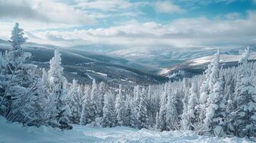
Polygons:
<instances>
[{"instance_id":1,"label":"dark blue forested mountain slope descending from left to the valley","mask_svg":"<svg viewBox=\"0 0 256 143\"><path fill-rule=\"evenodd\" d=\"M8 41L0 41L0 51L9 49ZM32 63L39 68L49 68L49 59L54 56L54 49L60 49L62 66L65 68L65 77L72 81L77 79L80 83L90 83L93 79L108 84L158 84L166 82L168 78L152 74L152 67L129 61L115 56L96 54L80 49L62 48L48 44L27 43L24 51L32 53Z\"/></svg>"}]
</instances>

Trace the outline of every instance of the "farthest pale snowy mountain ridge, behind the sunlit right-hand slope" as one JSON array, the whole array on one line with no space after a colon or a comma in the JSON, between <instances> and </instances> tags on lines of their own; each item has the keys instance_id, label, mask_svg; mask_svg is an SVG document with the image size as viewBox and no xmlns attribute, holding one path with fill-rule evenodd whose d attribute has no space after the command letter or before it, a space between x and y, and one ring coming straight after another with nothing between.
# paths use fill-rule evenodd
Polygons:
<instances>
[{"instance_id":1,"label":"farthest pale snowy mountain ridge, behind the sunlit right-hand slope","mask_svg":"<svg viewBox=\"0 0 256 143\"><path fill-rule=\"evenodd\" d=\"M252 51L256 51L256 46L252 46ZM245 46L225 46L221 47L221 54L240 55ZM191 47L191 48L129 48L111 51L109 55L118 55L139 64L150 64L161 69L168 69L172 66L183 64L186 61L212 56L217 51L216 47Z\"/></svg>"}]
</instances>

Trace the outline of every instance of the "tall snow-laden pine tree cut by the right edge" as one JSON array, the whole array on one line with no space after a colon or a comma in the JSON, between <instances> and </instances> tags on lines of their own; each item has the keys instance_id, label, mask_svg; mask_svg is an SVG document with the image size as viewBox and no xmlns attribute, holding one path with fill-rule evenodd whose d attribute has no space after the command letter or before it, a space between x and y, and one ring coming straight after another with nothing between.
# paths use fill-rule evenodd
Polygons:
<instances>
[{"instance_id":1,"label":"tall snow-laden pine tree cut by the right edge","mask_svg":"<svg viewBox=\"0 0 256 143\"><path fill-rule=\"evenodd\" d=\"M240 87L236 88L237 96L234 99L236 109L232 112L234 135L238 137L256 136L256 90L252 86L249 54L250 50L247 48L239 61L242 64L237 80Z\"/></svg>"}]
</instances>

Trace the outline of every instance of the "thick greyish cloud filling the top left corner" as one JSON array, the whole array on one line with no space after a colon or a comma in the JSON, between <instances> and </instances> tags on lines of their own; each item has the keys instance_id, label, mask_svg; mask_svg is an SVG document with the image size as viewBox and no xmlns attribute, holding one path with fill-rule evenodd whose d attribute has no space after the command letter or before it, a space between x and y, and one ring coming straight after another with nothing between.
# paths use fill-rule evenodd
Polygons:
<instances>
[{"instance_id":1,"label":"thick greyish cloud filling the top left corner","mask_svg":"<svg viewBox=\"0 0 256 143\"><path fill-rule=\"evenodd\" d=\"M57 24L95 24L95 20L67 4L49 0L0 0L0 19Z\"/></svg>"}]
</instances>

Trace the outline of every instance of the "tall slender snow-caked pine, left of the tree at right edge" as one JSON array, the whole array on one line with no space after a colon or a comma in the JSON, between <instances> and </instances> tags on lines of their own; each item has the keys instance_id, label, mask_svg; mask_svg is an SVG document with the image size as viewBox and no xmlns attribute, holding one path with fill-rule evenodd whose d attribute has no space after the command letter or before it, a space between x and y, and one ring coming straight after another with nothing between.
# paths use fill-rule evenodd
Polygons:
<instances>
[{"instance_id":1,"label":"tall slender snow-caked pine, left of the tree at right edge","mask_svg":"<svg viewBox=\"0 0 256 143\"><path fill-rule=\"evenodd\" d=\"M204 123L209 132L215 136L224 136L225 132L225 100L223 96L223 81L219 76L219 49L212 60L212 71L209 79L210 94L207 99L206 117Z\"/></svg>"}]
</instances>

